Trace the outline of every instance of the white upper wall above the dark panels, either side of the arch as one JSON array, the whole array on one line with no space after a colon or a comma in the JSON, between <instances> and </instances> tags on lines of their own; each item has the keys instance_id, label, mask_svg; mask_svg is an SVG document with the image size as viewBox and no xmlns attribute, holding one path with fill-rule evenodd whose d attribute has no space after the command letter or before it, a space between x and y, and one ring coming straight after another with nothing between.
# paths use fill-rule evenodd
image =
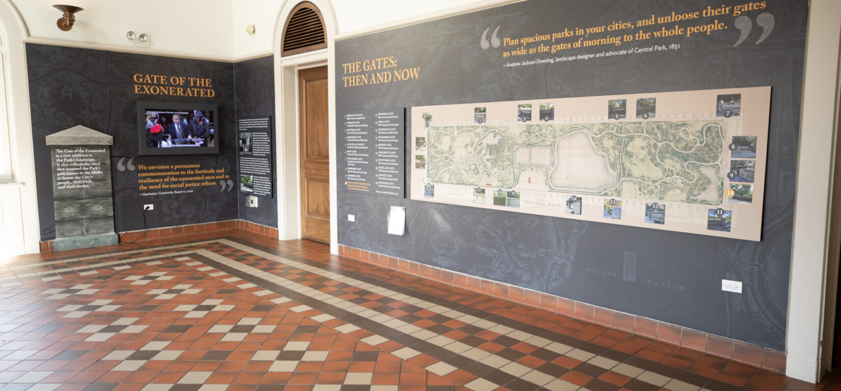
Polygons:
<instances>
[{"instance_id":1,"label":"white upper wall above the dark panels, either side of the arch","mask_svg":"<svg viewBox=\"0 0 841 391\"><path fill-rule=\"evenodd\" d=\"M238 61L272 52L275 26L285 3L299 0L69 0L84 8L70 31L61 31L56 2L10 0L29 28L30 41L109 50ZM337 34L389 24L475 0L333 0ZM283 24L285 20L279 21ZM257 31L246 33L254 24ZM149 48L125 38L129 30L149 34Z\"/></svg>"}]
</instances>

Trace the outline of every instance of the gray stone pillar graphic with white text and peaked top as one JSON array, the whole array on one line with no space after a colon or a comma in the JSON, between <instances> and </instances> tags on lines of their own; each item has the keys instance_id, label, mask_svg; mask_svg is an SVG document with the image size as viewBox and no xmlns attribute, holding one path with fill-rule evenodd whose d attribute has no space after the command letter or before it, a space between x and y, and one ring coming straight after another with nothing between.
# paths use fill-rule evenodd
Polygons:
<instances>
[{"instance_id":1,"label":"gray stone pillar graphic with white text and peaked top","mask_svg":"<svg viewBox=\"0 0 841 391\"><path fill-rule=\"evenodd\" d=\"M82 125L46 136L52 159L53 249L117 244L111 190L114 138Z\"/></svg>"}]
</instances>

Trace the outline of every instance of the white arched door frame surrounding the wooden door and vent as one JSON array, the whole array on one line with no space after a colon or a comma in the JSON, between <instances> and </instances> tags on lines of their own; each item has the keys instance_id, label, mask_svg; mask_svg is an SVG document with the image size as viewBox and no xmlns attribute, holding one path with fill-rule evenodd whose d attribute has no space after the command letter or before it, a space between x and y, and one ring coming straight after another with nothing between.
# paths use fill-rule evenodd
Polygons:
<instances>
[{"instance_id":1,"label":"white arched door frame surrounding the wooden door and vent","mask_svg":"<svg viewBox=\"0 0 841 391\"><path fill-rule=\"evenodd\" d=\"M330 0L307 0L315 4L324 18L327 48L299 55L281 56L283 24L295 5L303 0L284 0L276 19L274 42L275 94L275 180L278 183L278 239L301 237L301 188L299 156L299 93L298 71L315 66L327 66L327 124L330 139L330 252L339 253L338 199L336 176L336 83L332 72L336 69L335 39L336 12Z\"/></svg>"}]
</instances>

